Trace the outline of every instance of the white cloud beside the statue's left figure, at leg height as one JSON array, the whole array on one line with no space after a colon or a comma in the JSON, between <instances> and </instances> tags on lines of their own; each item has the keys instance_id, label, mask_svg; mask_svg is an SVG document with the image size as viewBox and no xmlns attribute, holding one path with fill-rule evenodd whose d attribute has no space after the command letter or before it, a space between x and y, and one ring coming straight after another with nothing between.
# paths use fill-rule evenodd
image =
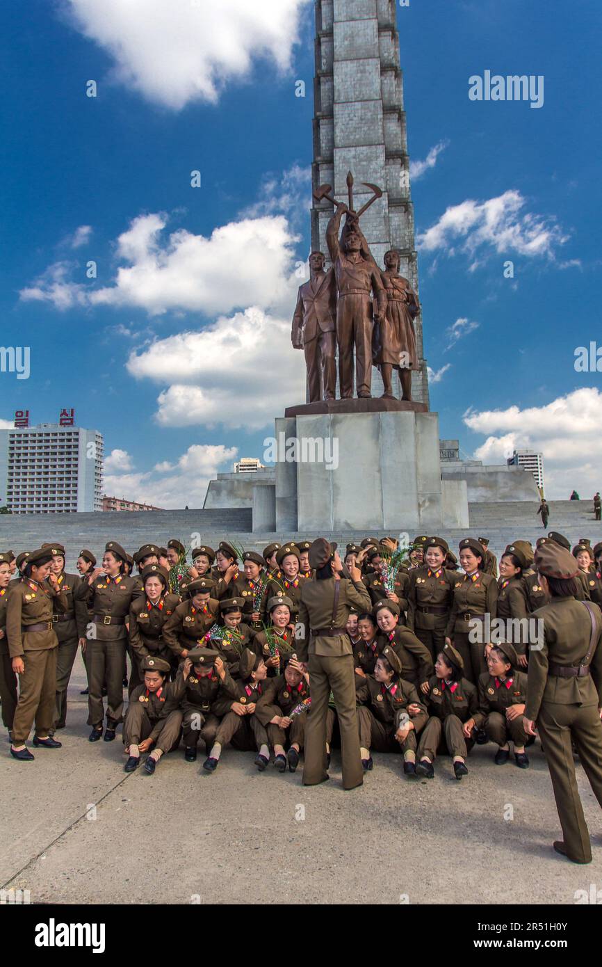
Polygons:
<instances>
[{"instance_id":1,"label":"white cloud beside the statue's left figure, at leg height","mask_svg":"<svg viewBox=\"0 0 602 967\"><path fill-rule=\"evenodd\" d=\"M169 384L158 396L162 426L257 429L305 399L304 358L292 348L290 321L257 307L158 339L132 352L128 369L136 379Z\"/></svg>"}]
</instances>

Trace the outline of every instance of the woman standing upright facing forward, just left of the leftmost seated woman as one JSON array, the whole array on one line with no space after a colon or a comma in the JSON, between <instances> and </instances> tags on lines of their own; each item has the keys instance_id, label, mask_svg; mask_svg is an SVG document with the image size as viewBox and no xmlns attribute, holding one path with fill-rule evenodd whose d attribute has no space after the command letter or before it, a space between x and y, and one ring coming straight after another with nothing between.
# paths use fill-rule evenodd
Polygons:
<instances>
[{"instance_id":1,"label":"woman standing upright facing forward, just left of the leftmost seated woman","mask_svg":"<svg viewBox=\"0 0 602 967\"><path fill-rule=\"evenodd\" d=\"M102 555L102 570L92 571L89 578L88 605L93 624L88 640L80 644L88 653L88 725L92 725L90 742L102 736L104 706L102 687L106 687L106 729L104 741L112 742L124 713L124 663L128 642L129 606L139 598L137 578L126 577L127 554L116 541L109 541Z\"/></svg>"}]
</instances>

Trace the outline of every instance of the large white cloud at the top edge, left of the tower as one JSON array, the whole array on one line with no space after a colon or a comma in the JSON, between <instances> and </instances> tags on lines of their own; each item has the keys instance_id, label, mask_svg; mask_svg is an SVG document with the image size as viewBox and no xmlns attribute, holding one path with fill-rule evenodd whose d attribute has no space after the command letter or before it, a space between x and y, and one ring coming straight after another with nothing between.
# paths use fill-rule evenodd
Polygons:
<instances>
[{"instance_id":1,"label":"large white cloud at the top edge, left of the tower","mask_svg":"<svg viewBox=\"0 0 602 967\"><path fill-rule=\"evenodd\" d=\"M309 0L69 0L74 26L114 62L117 81L179 110L215 103L253 62L291 67ZM266 81L267 78L264 78Z\"/></svg>"}]
</instances>

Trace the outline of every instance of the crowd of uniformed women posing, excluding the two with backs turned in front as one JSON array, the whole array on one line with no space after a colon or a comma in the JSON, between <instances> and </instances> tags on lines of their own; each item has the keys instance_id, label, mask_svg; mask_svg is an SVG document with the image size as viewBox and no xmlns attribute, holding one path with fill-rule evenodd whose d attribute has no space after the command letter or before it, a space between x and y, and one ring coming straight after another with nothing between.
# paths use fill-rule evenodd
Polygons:
<instances>
[{"instance_id":1,"label":"crowd of uniformed women posing, excluding the two with backs turned in front","mask_svg":"<svg viewBox=\"0 0 602 967\"><path fill-rule=\"evenodd\" d=\"M556 532L536 549L517 540L502 554L500 576L487 544L465 538L457 558L438 537L418 536L405 553L387 538L347 546L345 564L360 568L364 589L346 631L365 771L374 751L396 750L406 777L431 778L444 753L461 779L474 743L493 743L497 765L512 750L516 766L528 768L528 620L553 600L534 554L548 545L568 555L574 600L600 603L602 543L583 539L569 555ZM89 740L113 741L124 722L128 772L148 752L144 770L154 773L181 745L194 762L199 741L208 773L228 745L252 750L260 771L272 758L279 772L294 772L311 714L310 677L296 650L310 545L272 543L260 554L223 541L192 548L186 563L175 539L132 557L109 541L100 564L82 550L77 573L66 570L59 542L0 553L0 699L11 754L34 758L26 745L34 725L34 747L61 747L56 733L66 725L80 646ZM495 639L494 619L505 622ZM329 758L336 718L331 700Z\"/></svg>"}]
</instances>

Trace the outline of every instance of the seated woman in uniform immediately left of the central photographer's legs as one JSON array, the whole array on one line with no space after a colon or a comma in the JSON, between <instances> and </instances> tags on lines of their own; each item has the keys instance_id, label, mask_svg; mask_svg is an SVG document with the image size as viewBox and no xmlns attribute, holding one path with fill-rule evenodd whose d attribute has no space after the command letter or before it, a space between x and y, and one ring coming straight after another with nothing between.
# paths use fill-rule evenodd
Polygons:
<instances>
[{"instance_id":1,"label":"seated woman in uniform immediately left of the central photographer's legs","mask_svg":"<svg viewBox=\"0 0 602 967\"><path fill-rule=\"evenodd\" d=\"M289 771L294 773L299 765L305 738L305 722L309 711L309 673L293 656L287 656L283 664L284 672L269 680L266 690L257 702L255 715L266 726L273 748L273 764L278 772L286 772L288 763ZM302 709L302 706L305 708ZM285 754L287 738L290 747Z\"/></svg>"}]
</instances>

